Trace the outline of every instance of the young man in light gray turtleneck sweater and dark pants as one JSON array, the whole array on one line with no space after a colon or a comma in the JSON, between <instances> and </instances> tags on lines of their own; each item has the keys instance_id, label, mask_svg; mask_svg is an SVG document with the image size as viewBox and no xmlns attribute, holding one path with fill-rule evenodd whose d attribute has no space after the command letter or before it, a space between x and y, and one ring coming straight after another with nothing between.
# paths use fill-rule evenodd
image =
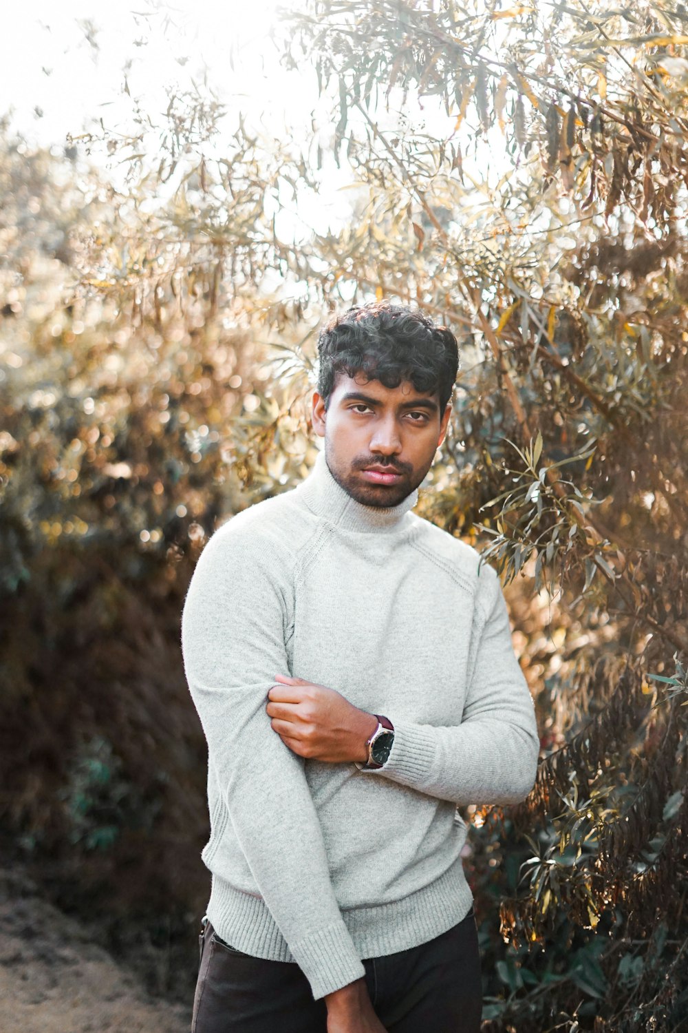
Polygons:
<instances>
[{"instance_id":1,"label":"young man in light gray turtleneck sweater and dark pants","mask_svg":"<svg viewBox=\"0 0 688 1033\"><path fill-rule=\"evenodd\" d=\"M477 1033L457 805L523 800L538 738L495 571L413 511L456 340L379 303L319 354L324 451L210 537L184 606L212 876L193 1029Z\"/></svg>"}]
</instances>

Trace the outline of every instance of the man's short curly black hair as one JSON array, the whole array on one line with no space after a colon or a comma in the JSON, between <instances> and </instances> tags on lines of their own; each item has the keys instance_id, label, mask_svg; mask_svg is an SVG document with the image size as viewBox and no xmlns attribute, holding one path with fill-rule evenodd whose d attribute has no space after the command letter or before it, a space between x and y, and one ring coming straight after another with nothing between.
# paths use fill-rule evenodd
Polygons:
<instances>
[{"instance_id":1,"label":"man's short curly black hair","mask_svg":"<svg viewBox=\"0 0 688 1033\"><path fill-rule=\"evenodd\" d=\"M318 394L327 409L337 373L363 373L385 387L409 380L416 390L439 396L440 415L459 368L456 338L418 309L387 301L334 313L318 336Z\"/></svg>"}]
</instances>

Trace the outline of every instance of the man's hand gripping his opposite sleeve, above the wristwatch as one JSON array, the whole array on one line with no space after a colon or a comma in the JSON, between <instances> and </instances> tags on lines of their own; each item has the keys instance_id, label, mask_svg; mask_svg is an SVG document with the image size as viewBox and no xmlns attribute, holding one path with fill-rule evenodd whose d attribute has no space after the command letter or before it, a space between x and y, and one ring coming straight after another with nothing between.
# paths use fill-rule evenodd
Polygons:
<instances>
[{"instance_id":1,"label":"man's hand gripping his opposite sleeve, above the wristwatch","mask_svg":"<svg viewBox=\"0 0 688 1033\"><path fill-rule=\"evenodd\" d=\"M335 689L302 678L275 675L265 708L270 725L300 757L328 763L368 759L366 740L378 726L374 714L354 707Z\"/></svg>"}]
</instances>

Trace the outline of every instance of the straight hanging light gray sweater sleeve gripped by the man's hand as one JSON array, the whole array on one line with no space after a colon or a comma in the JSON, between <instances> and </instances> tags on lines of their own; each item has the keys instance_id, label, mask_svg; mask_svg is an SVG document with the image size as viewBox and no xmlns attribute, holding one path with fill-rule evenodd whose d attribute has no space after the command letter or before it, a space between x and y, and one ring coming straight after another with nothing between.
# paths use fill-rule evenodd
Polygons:
<instances>
[{"instance_id":1,"label":"straight hanging light gray sweater sleeve gripped by the man's hand","mask_svg":"<svg viewBox=\"0 0 688 1033\"><path fill-rule=\"evenodd\" d=\"M229 526L211 536L185 600L182 652L239 845L317 1000L365 968L334 895L303 758L265 711L274 675L289 670L290 570L280 552Z\"/></svg>"}]
</instances>

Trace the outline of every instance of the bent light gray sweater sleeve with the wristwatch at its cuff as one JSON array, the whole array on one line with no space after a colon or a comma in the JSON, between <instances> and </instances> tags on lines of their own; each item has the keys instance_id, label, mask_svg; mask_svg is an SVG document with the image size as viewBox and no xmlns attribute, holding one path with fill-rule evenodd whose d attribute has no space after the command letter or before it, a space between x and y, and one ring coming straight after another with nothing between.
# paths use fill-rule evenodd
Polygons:
<instances>
[{"instance_id":1,"label":"bent light gray sweater sleeve with the wristwatch at its cuff","mask_svg":"<svg viewBox=\"0 0 688 1033\"><path fill-rule=\"evenodd\" d=\"M532 696L512 645L509 614L492 567L476 597L469 680L461 723L395 721L394 742L372 778L465 804L516 804L535 782L539 739Z\"/></svg>"}]
</instances>

